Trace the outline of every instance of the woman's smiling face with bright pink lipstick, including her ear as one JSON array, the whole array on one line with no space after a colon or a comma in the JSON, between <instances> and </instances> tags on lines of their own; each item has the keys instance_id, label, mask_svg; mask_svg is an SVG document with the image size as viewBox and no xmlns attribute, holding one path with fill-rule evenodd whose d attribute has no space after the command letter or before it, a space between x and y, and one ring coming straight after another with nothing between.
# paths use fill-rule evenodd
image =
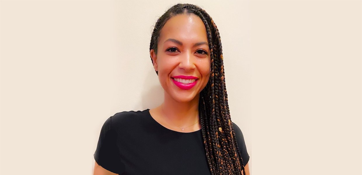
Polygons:
<instances>
[{"instance_id":1,"label":"woman's smiling face with bright pink lipstick, including her ear","mask_svg":"<svg viewBox=\"0 0 362 175\"><path fill-rule=\"evenodd\" d=\"M171 17L161 29L157 54L154 50L150 54L165 95L176 101L191 101L207 85L209 43L205 25L195 14Z\"/></svg>"}]
</instances>

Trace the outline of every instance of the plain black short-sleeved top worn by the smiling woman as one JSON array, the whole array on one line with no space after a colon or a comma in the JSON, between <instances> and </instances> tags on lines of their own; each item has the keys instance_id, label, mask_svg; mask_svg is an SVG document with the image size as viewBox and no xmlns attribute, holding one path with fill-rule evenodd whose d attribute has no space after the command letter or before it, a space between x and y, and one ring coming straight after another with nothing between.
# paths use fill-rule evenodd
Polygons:
<instances>
[{"instance_id":1,"label":"plain black short-sleeved top worn by the smiling woman","mask_svg":"<svg viewBox=\"0 0 362 175\"><path fill-rule=\"evenodd\" d=\"M232 123L244 166L249 161L243 133ZM124 111L102 126L94 159L122 175L210 175L201 129L183 133L165 128L144 111Z\"/></svg>"}]
</instances>

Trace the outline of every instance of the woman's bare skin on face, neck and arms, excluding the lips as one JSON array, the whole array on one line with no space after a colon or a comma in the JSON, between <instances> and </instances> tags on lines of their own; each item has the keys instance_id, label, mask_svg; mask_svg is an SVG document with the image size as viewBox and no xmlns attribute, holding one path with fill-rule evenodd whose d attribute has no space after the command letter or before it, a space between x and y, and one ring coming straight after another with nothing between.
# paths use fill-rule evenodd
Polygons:
<instances>
[{"instance_id":1,"label":"woman's bare skin on face, neck and arms, excluding the lips","mask_svg":"<svg viewBox=\"0 0 362 175\"><path fill-rule=\"evenodd\" d=\"M201 129L199 123L185 128L184 131L176 125L187 127L199 119L199 93L210 78L210 49L205 25L192 13L173 16L161 29L157 48L157 53L152 49L150 55L164 89L164 103L163 110L161 106L150 110L152 118L177 132L194 132ZM194 76L199 80L193 88L182 90L171 79L177 75ZM250 174L248 164L245 166L245 174ZM95 163L94 175L114 173Z\"/></svg>"}]
</instances>

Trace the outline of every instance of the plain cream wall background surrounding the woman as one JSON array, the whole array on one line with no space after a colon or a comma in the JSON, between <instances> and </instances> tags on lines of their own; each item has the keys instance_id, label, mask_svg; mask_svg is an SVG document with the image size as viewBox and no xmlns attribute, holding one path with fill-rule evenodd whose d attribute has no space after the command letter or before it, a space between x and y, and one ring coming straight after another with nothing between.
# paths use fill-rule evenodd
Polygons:
<instances>
[{"instance_id":1,"label":"plain cream wall background surrounding the woman","mask_svg":"<svg viewBox=\"0 0 362 175\"><path fill-rule=\"evenodd\" d=\"M93 172L100 128L162 102L152 26L201 6L220 31L253 175L362 174L362 3L0 1L0 174Z\"/></svg>"}]
</instances>

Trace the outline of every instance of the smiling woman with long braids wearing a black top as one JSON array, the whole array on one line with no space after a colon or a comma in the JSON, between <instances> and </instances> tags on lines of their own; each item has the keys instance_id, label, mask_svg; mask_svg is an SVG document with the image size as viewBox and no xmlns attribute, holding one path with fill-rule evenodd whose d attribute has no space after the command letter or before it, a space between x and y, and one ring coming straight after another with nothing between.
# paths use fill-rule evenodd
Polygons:
<instances>
[{"instance_id":1,"label":"smiling woman with long braids wearing a black top","mask_svg":"<svg viewBox=\"0 0 362 175\"><path fill-rule=\"evenodd\" d=\"M218 29L198 6L157 20L150 56L164 102L104 123L94 174L249 174L243 134L231 122Z\"/></svg>"}]
</instances>

